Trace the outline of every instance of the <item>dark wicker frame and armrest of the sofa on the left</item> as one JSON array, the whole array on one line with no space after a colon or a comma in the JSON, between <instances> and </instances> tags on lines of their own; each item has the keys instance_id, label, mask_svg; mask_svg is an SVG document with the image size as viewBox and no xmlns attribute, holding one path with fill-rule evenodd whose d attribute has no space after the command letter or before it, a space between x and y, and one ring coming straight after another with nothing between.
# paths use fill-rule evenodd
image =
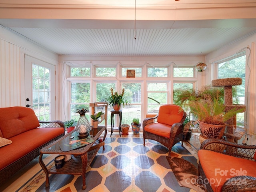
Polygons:
<instances>
[{"instance_id":1,"label":"dark wicker frame and armrest of the sofa on the left","mask_svg":"<svg viewBox=\"0 0 256 192\"><path fill-rule=\"evenodd\" d=\"M62 121L49 121L49 122L43 122L39 121L40 126L38 128L51 128L51 127L63 127L64 124ZM8 180L13 174L15 174L18 170L23 168L26 164L28 164L30 161L32 161L34 158L40 155L40 150L47 146L48 144L58 140L62 136L64 136L65 133L61 134L60 136L50 140L49 142L43 144L42 146L36 148L35 150L28 153L26 156L20 158L19 160L13 162L6 168L2 169L0 171L0 184L3 184L6 180Z\"/></svg>"}]
</instances>

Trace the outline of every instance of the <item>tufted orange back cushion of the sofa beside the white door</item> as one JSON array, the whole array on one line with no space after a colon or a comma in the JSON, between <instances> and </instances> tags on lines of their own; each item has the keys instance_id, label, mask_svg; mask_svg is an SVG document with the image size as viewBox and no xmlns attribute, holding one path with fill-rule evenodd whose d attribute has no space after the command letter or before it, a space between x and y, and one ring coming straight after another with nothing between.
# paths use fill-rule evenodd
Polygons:
<instances>
[{"instance_id":1,"label":"tufted orange back cushion of the sofa beside the white door","mask_svg":"<svg viewBox=\"0 0 256 192\"><path fill-rule=\"evenodd\" d=\"M39 126L38 118L30 108L0 108L0 133L6 139Z\"/></svg>"}]
</instances>

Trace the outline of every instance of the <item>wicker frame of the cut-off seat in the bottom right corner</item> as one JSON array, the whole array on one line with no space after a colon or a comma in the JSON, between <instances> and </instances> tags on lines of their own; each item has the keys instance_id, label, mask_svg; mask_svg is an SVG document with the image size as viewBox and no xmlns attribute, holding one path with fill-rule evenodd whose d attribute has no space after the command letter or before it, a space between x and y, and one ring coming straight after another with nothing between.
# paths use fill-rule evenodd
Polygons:
<instances>
[{"instance_id":1,"label":"wicker frame of the cut-off seat in the bottom right corner","mask_svg":"<svg viewBox=\"0 0 256 192\"><path fill-rule=\"evenodd\" d=\"M224 150L220 151L220 148ZM256 152L256 145L240 145L220 139L207 139L202 142L200 149L210 150L256 162L256 160L253 158ZM204 181L205 179L206 176L199 161L198 180ZM209 182L206 183L205 186L208 192L213 192ZM224 183L222 192L256 192L256 178L251 176L232 177Z\"/></svg>"}]
</instances>

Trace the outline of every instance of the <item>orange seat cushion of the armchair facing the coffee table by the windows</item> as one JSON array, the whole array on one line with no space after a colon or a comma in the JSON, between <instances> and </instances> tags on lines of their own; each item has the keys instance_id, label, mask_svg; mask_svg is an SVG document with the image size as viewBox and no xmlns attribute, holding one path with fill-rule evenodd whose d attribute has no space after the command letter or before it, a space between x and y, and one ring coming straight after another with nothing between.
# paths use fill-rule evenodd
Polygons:
<instances>
[{"instance_id":1,"label":"orange seat cushion of the armchair facing the coffee table by the windows","mask_svg":"<svg viewBox=\"0 0 256 192\"><path fill-rule=\"evenodd\" d=\"M162 137L170 138L170 132L171 132L172 126L162 124L162 123L154 123L154 124L149 124L144 127L144 130L146 132L150 132L155 135L159 135Z\"/></svg>"}]
</instances>

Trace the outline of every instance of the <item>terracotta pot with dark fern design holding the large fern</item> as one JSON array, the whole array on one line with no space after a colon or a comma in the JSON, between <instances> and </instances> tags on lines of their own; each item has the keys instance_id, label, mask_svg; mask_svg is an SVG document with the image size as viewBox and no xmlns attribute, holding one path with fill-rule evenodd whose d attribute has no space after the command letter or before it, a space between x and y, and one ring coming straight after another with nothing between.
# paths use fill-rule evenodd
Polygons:
<instances>
[{"instance_id":1,"label":"terracotta pot with dark fern design holding the large fern","mask_svg":"<svg viewBox=\"0 0 256 192\"><path fill-rule=\"evenodd\" d=\"M226 124L223 125L212 125L212 124L207 124L201 121L199 122L199 127L201 129L202 136L206 138L222 138Z\"/></svg>"}]
</instances>

